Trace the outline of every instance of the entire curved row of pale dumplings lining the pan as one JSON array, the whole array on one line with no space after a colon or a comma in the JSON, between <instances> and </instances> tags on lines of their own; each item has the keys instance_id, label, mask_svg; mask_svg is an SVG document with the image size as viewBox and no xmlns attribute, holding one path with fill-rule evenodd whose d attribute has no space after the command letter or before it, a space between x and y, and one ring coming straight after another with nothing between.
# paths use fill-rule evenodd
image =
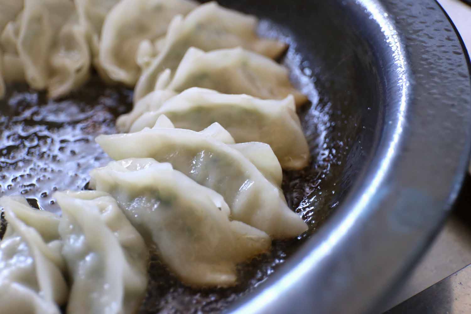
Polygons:
<instances>
[{"instance_id":1,"label":"entire curved row of pale dumplings lining the pan","mask_svg":"<svg viewBox=\"0 0 471 314\"><path fill-rule=\"evenodd\" d=\"M5 2L5 5L3 5ZM2 197L2 306L24 313L133 313L149 247L192 286L230 286L238 263L308 229L286 204L282 169L309 148L296 90L257 19L188 0L0 0L0 74L62 97L93 65L135 86L114 161L94 191L57 192L62 217ZM250 95L250 96L249 96Z\"/></svg>"}]
</instances>

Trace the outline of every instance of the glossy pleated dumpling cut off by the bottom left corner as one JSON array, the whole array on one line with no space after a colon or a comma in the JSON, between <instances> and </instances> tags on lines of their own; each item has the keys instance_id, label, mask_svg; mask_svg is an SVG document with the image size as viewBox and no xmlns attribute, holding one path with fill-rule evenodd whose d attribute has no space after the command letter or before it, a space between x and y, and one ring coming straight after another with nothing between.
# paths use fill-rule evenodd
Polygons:
<instances>
[{"instance_id":1,"label":"glossy pleated dumpling cut off by the bottom left corner","mask_svg":"<svg viewBox=\"0 0 471 314\"><path fill-rule=\"evenodd\" d=\"M0 206L8 221L0 241L2 313L59 314L68 296L59 217L14 197L3 196Z\"/></svg>"}]
</instances>

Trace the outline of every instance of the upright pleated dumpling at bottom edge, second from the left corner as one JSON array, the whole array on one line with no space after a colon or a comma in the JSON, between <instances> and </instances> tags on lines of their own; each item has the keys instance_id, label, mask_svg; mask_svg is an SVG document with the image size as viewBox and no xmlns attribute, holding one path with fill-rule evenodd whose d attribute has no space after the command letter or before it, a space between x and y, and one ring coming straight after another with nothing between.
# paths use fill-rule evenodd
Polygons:
<instances>
[{"instance_id":1,"label":"upright pleated dumpling at bottom edge, second from the left corner","mask_svg":"<svg viewBox=\"0 0 471 314\"><path fill-rule=\"evenodd\" d=\"M97 191L54 193L71 274L67 313L134 313L147 286L148 251L116 201Z\"/></svg>"}]
</instances>

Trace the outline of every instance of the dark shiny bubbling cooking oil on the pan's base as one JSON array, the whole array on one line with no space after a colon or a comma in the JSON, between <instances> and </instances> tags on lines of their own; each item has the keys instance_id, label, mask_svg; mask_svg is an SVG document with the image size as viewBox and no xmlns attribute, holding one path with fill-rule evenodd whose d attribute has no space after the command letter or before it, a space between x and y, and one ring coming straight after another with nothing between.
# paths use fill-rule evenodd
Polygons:
<instances>
[{"instance_id":1,"label":"dark shiny bubbling cooking oil on the pan's base","mask_svg":"<svg viewBox=\"0 0 471 314\"><path fill-rule=\"evenodd\" d=\"M296 239L275 241L270 252L239 265L239 283L232 288L189 288L169 274L153 254L140 313L199 313L226 308L265 281L338 203L335 169L348 151L348 143L335 139L333 105L328 97L317 93L309 64L292 48L284 62L292 71L293 81L312 101L299 112L312 161L304 170L285 172L283 181L288 204L308 222L309 231ZM85 188L89 171L109 161L94 138L116 132L115 119L131 109L132 91L106 86L94 77L60 101L48 100L44 93L21 84L9 86L8 92L0 105L0 194L20 194L41 209L59 212L51 194Z\"/></svg>"}]
</instances>

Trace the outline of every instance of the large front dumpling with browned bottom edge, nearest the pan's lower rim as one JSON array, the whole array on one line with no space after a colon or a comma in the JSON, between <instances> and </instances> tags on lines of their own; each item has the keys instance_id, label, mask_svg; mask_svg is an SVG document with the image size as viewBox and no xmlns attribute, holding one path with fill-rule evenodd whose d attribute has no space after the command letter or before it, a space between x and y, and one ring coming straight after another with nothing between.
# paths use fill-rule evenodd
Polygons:
<instances>
[{"instance_id":1,"label":"large front dumpling with browned bottom edge, nearest the pan's lower rim","mask_svg":"<svg viewBox=\"0 0 471 314\"><path fill-rule=\"evenodd\" d=\"M156 244L166 265L189 285L233 285L236 264L270 247L266 233L229 220L221 195L169 163L112 161L90 175L90 186L111 193L131 223Z\"/></svg>"}]
</instances>

